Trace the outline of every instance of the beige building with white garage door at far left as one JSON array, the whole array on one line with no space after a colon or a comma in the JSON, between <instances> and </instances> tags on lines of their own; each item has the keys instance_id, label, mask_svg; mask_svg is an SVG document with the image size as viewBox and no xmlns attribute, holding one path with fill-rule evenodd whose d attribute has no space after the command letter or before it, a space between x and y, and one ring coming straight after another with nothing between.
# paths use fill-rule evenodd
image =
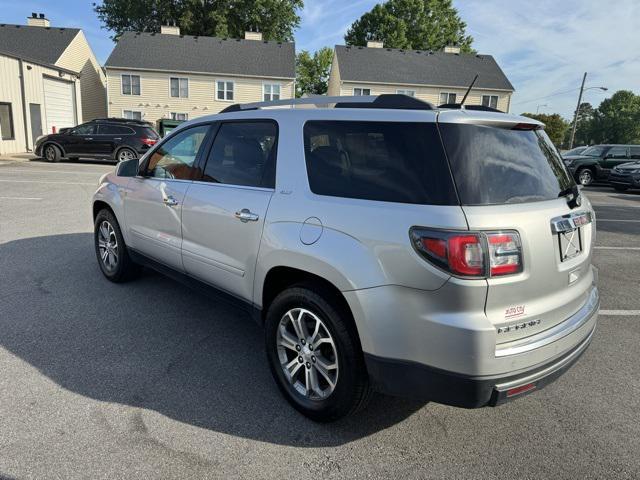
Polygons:
<instances>
[{"instance_id":1,"label":"beige building with white garage door at far left","mask_svg":"<svg viewBox=\"0 0 640 480\"><path fill-rule=\"evenodd\" d=\"M35 139L106 115L106 77L82 30L0 24L0 154L30 151Z\"/></svg>"}]
</instances>

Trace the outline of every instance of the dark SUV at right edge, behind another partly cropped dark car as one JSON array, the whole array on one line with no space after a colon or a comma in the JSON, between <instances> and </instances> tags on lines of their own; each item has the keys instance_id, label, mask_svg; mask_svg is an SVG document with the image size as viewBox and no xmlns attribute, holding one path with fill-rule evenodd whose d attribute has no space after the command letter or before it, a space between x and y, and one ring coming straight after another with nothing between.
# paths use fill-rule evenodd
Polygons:
<instances>
[{"instance_id":1,"label":"dark SUV at right edge, behind another partly cropped dark car","mask_svg":"<svg viewBox=\"0 0 640 480\"><path fill-rule=\"evenodd\" d=\"M607 180L614 167L640 160L640 145L594 145L579 156L564 159L564 163L582 185L595 180Z\"/></svg>"}]
</instances>

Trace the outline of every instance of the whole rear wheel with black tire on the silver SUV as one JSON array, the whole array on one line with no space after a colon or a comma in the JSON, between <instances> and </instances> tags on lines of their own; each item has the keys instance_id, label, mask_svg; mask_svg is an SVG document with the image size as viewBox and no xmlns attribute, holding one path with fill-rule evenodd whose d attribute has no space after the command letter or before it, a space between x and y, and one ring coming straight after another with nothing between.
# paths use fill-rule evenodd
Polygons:
<instances>
[{"instance_id":1,"label":"whole rear wheel with black tire on the silver SUV","mask_svg":"<svg viewBox=\"0 0 640 480\"><path fill-rule=\"evenodd\" d=\"M303 415L331 422L367 404L371 387L358 334L337 294L313 284L284 290L268 307L265 342L280 391Z\"/></svg>"}]
</instances>

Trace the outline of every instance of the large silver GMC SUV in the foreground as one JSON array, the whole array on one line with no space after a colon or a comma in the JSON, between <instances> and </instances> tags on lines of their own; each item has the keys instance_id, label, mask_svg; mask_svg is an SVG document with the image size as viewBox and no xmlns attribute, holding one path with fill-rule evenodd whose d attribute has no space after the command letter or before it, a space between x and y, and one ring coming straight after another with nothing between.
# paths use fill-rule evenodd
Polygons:
<instances>
[{"instance_id":1,"label":"large silver GMC SUV in the foreground","mask_svg":"<svg viewBox=\"0 0 640 480\"><path fill-rule=\"evenodd\" d=\"M322 102L323 108L268 108ZM595 215L543 125L397 96L233 105L93 198L111 281L151 266L264 325L299 411L372 390L465 408L538 390L587 348Z\"/></svg>"}]
</instances>

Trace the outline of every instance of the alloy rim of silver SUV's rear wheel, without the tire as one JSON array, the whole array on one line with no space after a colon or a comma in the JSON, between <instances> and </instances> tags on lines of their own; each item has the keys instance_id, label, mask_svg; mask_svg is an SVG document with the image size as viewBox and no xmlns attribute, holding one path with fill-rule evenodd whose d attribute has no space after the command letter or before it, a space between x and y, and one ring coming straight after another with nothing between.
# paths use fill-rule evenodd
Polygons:
<instances>
[{"instance_id":1,"label":"alloy rim of silver SUV's rear wheel, without the tire","mask_svg":"<svg viewBox=\"0 0 640 480\"><path fill-rule=\"evenodd\" d=\"M313 312L293 308L284 314L276 336L285 378L309 400L324 400L338 383L338 352L327 326Z\"/></svg>"}]
</instances>

